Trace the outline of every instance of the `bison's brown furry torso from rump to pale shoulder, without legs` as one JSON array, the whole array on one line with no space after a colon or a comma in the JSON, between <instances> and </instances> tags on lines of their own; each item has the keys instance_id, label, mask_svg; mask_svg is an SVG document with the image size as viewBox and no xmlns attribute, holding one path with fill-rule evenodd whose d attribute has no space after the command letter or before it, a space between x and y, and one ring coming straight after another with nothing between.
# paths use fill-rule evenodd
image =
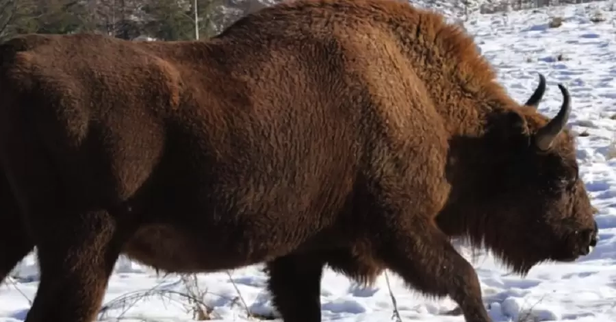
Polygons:
<instances>
[{"instance_id":1,"label":"bison's brown furry torso from rump to pale shoulder, without legs","mask_svg":"<svg viewBox=\"0 0 616 322\"><path fill-rule=\"evenodd\" d=\"M0 75L12 84L2 95L14 97L3 114L34 122L63 198L129 203L151 224L131 243L144 259L163 235L175 236L172 250L194 245L186 258L212 243L220 247L204 258L235 249L236 264L352 239L372 220L355 211L366 185L406 189L424 160L439 169L446 143L389 29L319 10L306 15L312 25L304 17L286 32L272 23L247 34L244 21L208 42L28 36L27 49L4 47L27 59ZM417 164L400 168L409 160Z\"/></svg>"}]
</instances>

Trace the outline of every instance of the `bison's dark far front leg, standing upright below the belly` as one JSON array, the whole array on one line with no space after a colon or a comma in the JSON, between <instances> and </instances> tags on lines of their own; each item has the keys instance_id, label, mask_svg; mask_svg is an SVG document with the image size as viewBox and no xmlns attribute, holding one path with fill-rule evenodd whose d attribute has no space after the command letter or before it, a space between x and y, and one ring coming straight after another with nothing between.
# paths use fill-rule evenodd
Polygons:
<instances>
[{"instance_id":1,"label":"bison's dark far front leg, standing upright below the belly","mask_svg":"<svg viewBox=\"0 0 616 322\"><path fill-rule=\"evenodd\" d=\"M269 289L285 322L320 322L324 260L291 254L268 262Z\"/></svg>"}]
</instances>

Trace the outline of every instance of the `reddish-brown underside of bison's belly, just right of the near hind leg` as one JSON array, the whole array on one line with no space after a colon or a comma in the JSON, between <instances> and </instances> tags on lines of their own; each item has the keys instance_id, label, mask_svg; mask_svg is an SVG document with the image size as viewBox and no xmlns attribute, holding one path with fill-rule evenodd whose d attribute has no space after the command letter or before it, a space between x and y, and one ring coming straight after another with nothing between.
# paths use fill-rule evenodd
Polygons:
<instances>
[{"instance_id":1,"label":"reddish-brown underside of bison's belly, just right of the near hind leg","mask_svg":"<svg viewBox=\"0 0 616 322\"><path fill-rule=\"evenodd\" d=\"M211 243L201 236L205 235L170 225L149 225L138 230L125 244L123 253L132 260L170 273L220 271L268 260L268 254L253 258L249 253Z\"/></svg>"}]
</instances>

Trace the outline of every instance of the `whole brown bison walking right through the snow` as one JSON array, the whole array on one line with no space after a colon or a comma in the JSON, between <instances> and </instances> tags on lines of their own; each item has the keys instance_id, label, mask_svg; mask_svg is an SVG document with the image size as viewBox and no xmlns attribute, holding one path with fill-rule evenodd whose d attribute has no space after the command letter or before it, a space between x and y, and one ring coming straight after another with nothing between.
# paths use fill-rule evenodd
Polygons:
<instances>
[{"instance_id":1,"label":"whole brown bison walking right through the snow","mask_svg":"<svg viewBox=\"0 0 616 322\"><path fill-rule=\"evenodd\" d=\"M26 35L0 47L0 278L34 246L28 322L92 321L120 253L170 272L266 262L285 322L324 265L392 269L489 321L470 236L515 271L597 226L569 94L506 94L472 39L381 0L266 8L204 42Z\"/></svg>"}]
</instances>

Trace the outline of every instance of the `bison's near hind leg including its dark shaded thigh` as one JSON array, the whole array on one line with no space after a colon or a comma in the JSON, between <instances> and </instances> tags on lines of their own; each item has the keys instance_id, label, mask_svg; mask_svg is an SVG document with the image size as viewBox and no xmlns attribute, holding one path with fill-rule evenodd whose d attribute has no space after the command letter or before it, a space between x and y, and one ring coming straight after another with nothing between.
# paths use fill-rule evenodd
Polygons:
<instances>
[{"instance_id":1,"label":"bison's near hind leg including its dark shaded thigh","mask_svg":"<svg viewBox=\"0 0 616 322\"><path fill-rule=\"evenodd\" d=\"M132 233L122 220L126 216L114 216L101 206L80 202L83 198L75 191L97 195L98 183L85 189L71 186L76 180L61 175L35 136L37 131L27 127L28 123L13 120L20 118L0 117L0 129L6 131L0 136L0 162L24 212L24 230L36 245L40 267L40 284L26 322L90 322L101 306L123 243ZM0 207L3 214L5 205ZM12 221L17 221L16 217L8 216ZM18 232L14 237L18 236L26 234ZM21 249L10 249L10 255L3 257L4 270L29 251L31 245L26 247L25 239L21 242ZM14 247L12 243L14 240L6 238L0 245L8 249L8 245Z\"/></svg>"}]
</instances>

